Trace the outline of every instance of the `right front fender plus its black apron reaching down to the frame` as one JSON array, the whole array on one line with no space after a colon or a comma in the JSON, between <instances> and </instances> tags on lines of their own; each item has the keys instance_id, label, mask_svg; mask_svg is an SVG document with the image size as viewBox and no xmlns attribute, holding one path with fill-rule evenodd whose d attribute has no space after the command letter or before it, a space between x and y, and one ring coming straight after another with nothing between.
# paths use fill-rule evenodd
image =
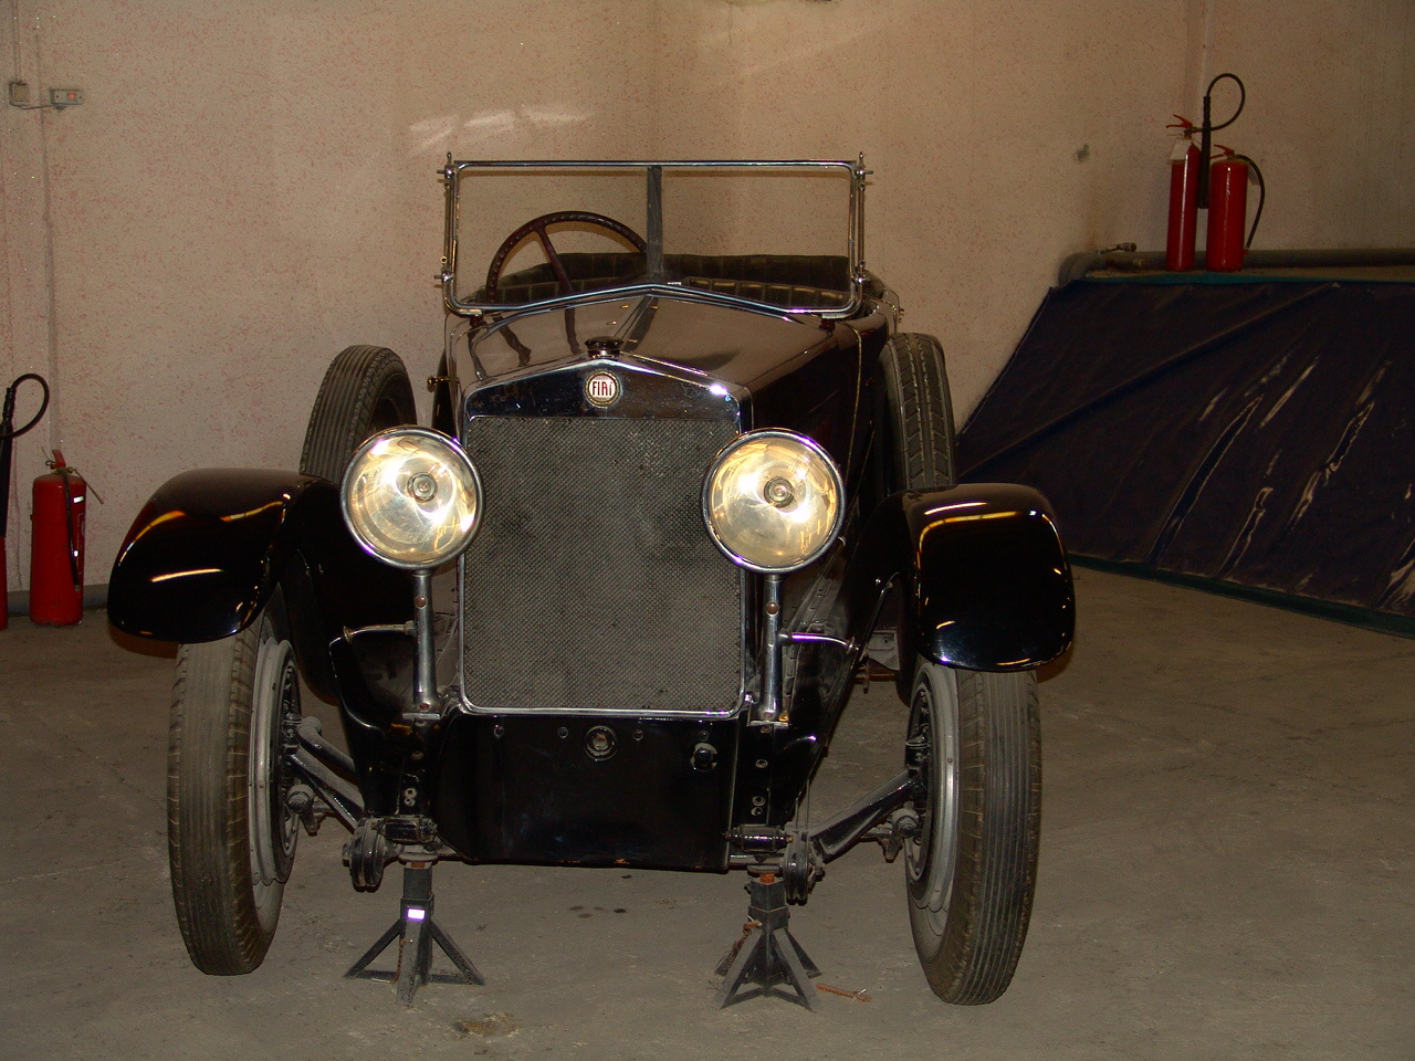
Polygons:
<instances>
[{"instance_id":1,"label":"right front fender plus its black apron reaching down to the frame","mask_svg":"<svg viewBox=\"0 0 1415 1061\"><path fill-rule=\"evenodd\" d=\"M1029 487L893 494L870 514L849 555L819 577L838 590L821 613L798 615L787 635L794 654L788 724L743 736L743 764L771 761L764 818L771 826L794 813L882 624L897 624L897 685L906 700L918 655L965 671L1020 671L1060 656L1075 630L1065 549L1050 505ZM739 784L754 784L751 771Z\"/></svg>"}]
</instances>

